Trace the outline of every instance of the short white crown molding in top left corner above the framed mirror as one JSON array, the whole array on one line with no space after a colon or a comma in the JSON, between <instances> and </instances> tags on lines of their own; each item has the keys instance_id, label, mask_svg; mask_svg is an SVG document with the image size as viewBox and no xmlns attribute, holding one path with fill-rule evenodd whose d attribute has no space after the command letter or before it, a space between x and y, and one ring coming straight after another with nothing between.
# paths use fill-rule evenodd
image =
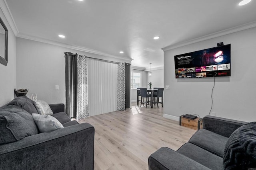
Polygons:
<instances>
[{"instance_id":1,"label":"short white crown molding in top left corner above the framed mirror","mask_svg":"<svg viewBox=\"0 0 256 170\"><path fill-rule=\"evenodd\" d=\"M12 13L10 11L10 8L9 8L6 0L0 0L0 8L1 8L2 12L4 13L4 16L7 20L7 22L9 23L9 25L12 29L12 32L14 33L15 36L17 36L19 31L18 31L16 23L12 17Z\"/></svg>"}]
</instances>

